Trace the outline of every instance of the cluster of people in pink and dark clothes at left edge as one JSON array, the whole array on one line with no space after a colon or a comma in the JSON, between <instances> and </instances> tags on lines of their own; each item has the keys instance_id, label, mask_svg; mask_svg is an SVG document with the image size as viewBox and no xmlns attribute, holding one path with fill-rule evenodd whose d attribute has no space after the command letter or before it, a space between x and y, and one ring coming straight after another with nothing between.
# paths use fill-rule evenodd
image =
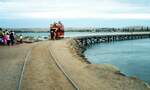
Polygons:
<instances>
[{"instance_id":1,"label":"cluster of people in pink and dark clothes at left edge","mask_svg":"<svg viewBox=\"0 0 150 90\"><path fill-rule=\"evenodd\" d=\"M2 45L14 45L14 32L8 30L2 30L0 28L0 44Z\"/></svg>"}]
</instances>

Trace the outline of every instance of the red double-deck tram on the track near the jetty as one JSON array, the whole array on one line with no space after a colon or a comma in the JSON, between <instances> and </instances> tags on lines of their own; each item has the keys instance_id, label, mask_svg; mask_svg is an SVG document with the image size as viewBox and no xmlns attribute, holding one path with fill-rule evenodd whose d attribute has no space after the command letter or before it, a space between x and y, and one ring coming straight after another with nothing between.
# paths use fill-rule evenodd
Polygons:
<instances>
[{"instance_id":1,"label":"red double-deck tram on the track near the jetty","mask_svg":"<svg viewBox=\"0 0 150 90\"><path fill-rule=\"evenodd\" d=\"M50 36L52 40L64 38L64 25L60 21L50 25Z\"/></svg>"}]
</instances>

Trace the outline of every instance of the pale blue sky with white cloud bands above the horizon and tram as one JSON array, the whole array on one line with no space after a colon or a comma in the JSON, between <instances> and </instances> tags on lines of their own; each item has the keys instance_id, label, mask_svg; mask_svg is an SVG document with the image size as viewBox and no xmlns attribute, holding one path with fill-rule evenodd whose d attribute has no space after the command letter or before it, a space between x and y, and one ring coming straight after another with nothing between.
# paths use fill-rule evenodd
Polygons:
<instances>
[{"instance_id":1,"label":"pale blue sky with white cloud bands above the horizon and tram","mask_svg":"<svg viewBox=\"0 0 150 90\"><path fill-rule=\"evenodd\" d=\"M0 27L150 25L150 0L0 0Z\"/></svg>"}]
</instances>

